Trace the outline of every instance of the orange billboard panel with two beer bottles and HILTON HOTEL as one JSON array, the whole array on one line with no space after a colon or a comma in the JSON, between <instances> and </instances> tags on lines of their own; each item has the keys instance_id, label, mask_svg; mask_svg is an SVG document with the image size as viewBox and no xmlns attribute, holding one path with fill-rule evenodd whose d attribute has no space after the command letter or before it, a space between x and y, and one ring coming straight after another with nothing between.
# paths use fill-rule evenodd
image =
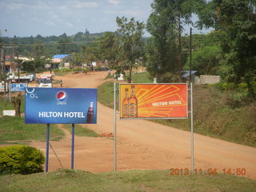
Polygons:
<instances>
[{"instance_id":1,"label":"orange billboard panel with two beer bottles and HILTON HOTEL","mask_svg":"<svg viewBox=\"0 0 256 192\"><path fill-rule=\"evenodd\" d=\"M120 84L120 118L187 118L187 84Z\"/></svg>"}]
</instances>

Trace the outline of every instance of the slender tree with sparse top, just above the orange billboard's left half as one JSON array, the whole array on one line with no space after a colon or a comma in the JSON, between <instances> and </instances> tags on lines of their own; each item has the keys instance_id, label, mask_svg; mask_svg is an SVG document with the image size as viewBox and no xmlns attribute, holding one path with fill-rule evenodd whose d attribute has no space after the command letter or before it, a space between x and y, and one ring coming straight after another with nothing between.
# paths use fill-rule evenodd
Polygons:
<instances>
[{"instance_id":1,"label":"slender tree with sparse top, just above the orange billboard's left half","mask_svg":"<svg viewBox=\"0 0 256 192\"><path fill-rule=\"evenodd\" d=\"M144 29L143 22L136 22L134 18L116 18L118 24L118 66L116 70L118 74L125 74L128 70L128 82L131 82L131 74L134 67L138 65L138 61L143 57L142 34Z\"/></svg>"}]
</instances>

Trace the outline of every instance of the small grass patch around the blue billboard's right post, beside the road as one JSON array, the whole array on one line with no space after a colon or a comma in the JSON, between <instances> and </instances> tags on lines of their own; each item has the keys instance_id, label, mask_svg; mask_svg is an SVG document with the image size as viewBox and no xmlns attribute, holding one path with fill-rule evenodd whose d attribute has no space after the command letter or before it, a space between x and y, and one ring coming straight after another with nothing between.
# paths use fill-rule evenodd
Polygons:
<instances>
[{"instance_id":1,"label":"small grass patch around the blue billboard's right post, beside the road","mask_svg":"<svg viewBox=\"0 0 256 192\"><path fill-rule=\"evenodd\" d=\"M71 133L72 126L70 124L63 124L63 128L69 130ZM98 138L98 134L94 130L90 130L86 126L74 125L74 134L82 137Z\"/></svg>"}]
</instances>

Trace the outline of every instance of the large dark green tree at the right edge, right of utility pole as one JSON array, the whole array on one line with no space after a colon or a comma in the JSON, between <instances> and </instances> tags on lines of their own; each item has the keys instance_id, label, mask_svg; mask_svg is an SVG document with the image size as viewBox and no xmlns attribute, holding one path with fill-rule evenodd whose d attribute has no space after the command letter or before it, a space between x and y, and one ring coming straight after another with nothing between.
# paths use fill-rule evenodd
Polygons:
<instances>
[{"instance_id":1,"label":"large dark green tree at the right edge, right of utility pole","mask_svg":"<svg viewBox=\"0 0 256 192\"><path fill-rule=\"evenodd\" d=\"M212 0L202 10L199 26L214 26L222 34L222 77L227 82L250 82L256 74L256 1Z\"/></svg>"}]
</instances>

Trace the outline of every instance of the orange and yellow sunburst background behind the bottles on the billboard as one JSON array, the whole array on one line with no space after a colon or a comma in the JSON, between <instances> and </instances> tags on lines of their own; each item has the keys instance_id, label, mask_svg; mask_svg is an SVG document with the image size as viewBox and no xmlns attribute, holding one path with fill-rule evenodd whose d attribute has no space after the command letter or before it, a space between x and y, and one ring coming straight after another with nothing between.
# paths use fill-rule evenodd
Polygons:
<instances>
[{"instance_id":1,"label":"orange and yellow sunburst background behind the bottles on the billboard","mask_svg":"<svg viewBox=\"0 0 256 192\"><path fill-rule=\"evenodd\" d=\"M138 100L138 118L176 118L187 116L186 84L133 84ZM131 85L121 86L123 89ZM122 114L122 112L121 112Z\"/></svg>"}]
</instances>

